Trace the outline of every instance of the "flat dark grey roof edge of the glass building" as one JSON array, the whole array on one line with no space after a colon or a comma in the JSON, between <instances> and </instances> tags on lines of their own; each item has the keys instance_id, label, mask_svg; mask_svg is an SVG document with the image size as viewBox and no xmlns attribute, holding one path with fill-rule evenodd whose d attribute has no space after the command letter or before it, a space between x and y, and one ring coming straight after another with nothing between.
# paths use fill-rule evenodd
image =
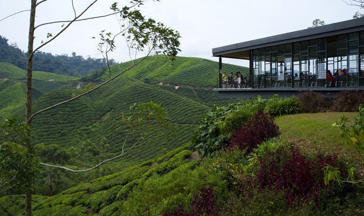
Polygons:
<instances>
[{"instance_id":1,"label":"flat dark grey roof edge of the glass building","mask_svg":"<svg viewBox=\"0 0 364 216\"><path fill-rule=\"evenodd\" d=\"M249 59L249 50L359 31L364 31L364 17L231 44L214 48L212 52L216 57Z\"/></svg>"}]
</instances>

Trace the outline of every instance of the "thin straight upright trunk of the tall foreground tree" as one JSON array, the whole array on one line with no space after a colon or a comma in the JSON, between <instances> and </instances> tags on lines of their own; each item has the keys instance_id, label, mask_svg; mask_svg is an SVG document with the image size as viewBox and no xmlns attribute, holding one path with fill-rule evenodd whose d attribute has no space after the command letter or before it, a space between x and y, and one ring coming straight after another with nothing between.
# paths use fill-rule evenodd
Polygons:
<instances>
[{"instance_id":1,"label":"thin straight upright trunk of the tall foreground tree","mask_svg":"<svg viewBox=\"0 0 364 216\"><path fill-rule=\"evenodd\" d=\"M26 91L26 108L25 123L31 127L32 116L32 71L33 71L33 42L34 42L34 22L35 22L36 0L32 0L31 14L29 22L29 38L28 38L28 59L27 59L27 91ZM31 141L27 142L27 148L32 147ZM32 179L28 179L27 190L25 192L25 215L32 216Z\"/></svg>"}]
</instances>

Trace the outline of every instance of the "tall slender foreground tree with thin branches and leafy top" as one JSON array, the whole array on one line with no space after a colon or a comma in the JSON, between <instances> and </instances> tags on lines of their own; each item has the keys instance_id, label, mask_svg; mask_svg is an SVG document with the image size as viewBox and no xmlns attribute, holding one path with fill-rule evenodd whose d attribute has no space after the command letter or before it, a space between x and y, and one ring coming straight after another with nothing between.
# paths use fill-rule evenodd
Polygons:
<instances>
[{"instance_id":1,"label":"tall slender foreground tree with thin branches and leafy top","mask_svg":"<svg viewBox=\"0 0 364 216\"><path fill-rule=\"evenodd\" d=\"M112 12L107 15L97 16L97 17L86 17L81 18L83 14L89 10L98 0L92 0L89 6L84 8L81 13L77 14L76 10L73 5L72 0L72 8L74 11L74 18L71 20L62 20L62 21L53 21L48 23L43 23L35 26L35 15L36 15L36 8L40 6L40 4L46 2L47 0L31 0L31 8L30 8L30 25L29 25L29 35L28 35L28 57L27 57L27 81L26 81L26 110L25 110L25 124L27 127L29 127L29 130L26 132L27 135L30 137L31 133L31 126L32 126L32 119L34 116L45 112L47 110L50 110L54 107L60 106L62 104L65 104L67 102L70 102L72 100L76 100L83 95L89 94L90 92L98 89L99 87L105 85L106 83L109 83L110 81L114 80L116 77L124 73L125 71L129 70L133 66L139 64L141 61L143 61L146 57L151 55L152 53L156 54L164 54L166 56L169 56L173 58L177 55L180 42L179 38L180 35L178 32L169 29L164 26L163 23L156 22L155 20L149 18L146 19L144 16L142 16L140 10L138 8L143 5L145 0L132 0L130 1L129 5L124 6L122 9L119 9L117 7L117 3L114 3L111 5L110 9ZM20 12L18 12L20 13ZM15 15L15 14L14 14ZM119 73L116 74L116 76L110 77L109 80L105 81L104 83L99 84L97 87L87 90L81 95L74 96L70 100L65 100L61 103L52 105L48 108L45 108L43 110L40 110L38 112L35 112L32 114L32 71L33 71L33 55L34 53L41 49L42 47L46 46L53 40L55 40L59 35L64 33L69 26L71 26L75 22L89 20L89 19L95 19L100 17L107 17L111 15L118 15L120 24L120 31L116 34L113 33L105 33L105 31L102 31L100 33L101 36L101 42L100 42L100 51L107 52L113 51L115 49L115 40L117 37L123 37L126 39L130 56L132 56L133 51L135 52L135 58L132 61L132 66L126 68L125 70L119 71ZM11 15L12 16L12 15ZM8 17L11 17L8 16ZM47 38L49 38L48 41L43 42L40 46L37 48L34 47L34 32L37 28L45 25L55 24L55 23L65 23L62 25L61 31L58 33L52 34L48 33ZM112 36L114 35L114 36ZM101 48L102 46L106 45L106 50L103 51ZM142 51L145 54L145 57L139 59L136 61L136 53ZM106 55L107 57L107 55ZM110 71L110 67L109 67ZM32 150L32 143L31 140L27 140L25 142L25 147L27 150ZM129 151L129 150L128 150ZM124 153L124 152L123 152ZM32 155L32 154L29 154ZM27 178L26 181L26 194L25 194L25 215L31 216L32 215L32 177L30 176Z\"/></svg>"}]
</instances>

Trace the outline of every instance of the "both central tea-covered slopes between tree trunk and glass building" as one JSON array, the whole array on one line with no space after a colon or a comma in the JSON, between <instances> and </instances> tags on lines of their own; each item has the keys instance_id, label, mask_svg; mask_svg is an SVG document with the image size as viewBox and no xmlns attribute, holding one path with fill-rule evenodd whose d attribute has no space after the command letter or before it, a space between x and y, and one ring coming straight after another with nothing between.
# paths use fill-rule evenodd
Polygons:
<instances>
[{"instance_id":1,"label":"both central tea-covered slopes between tree trunk and glass building","mask_svg":"<svg viewBox=\"0 0 364 216\"><path fill-rule=\"evenodd\" d=\"M126 68L130 64L131 62L123 63L120 67ZM232 71L247 70L241 66L223 65L223 67ZM152 159L163 149L173 150L188 142L200 116L210 109L206 105L212 107L213 104L237 101L220 100L217 94L212 92L213 79L218 74L217 68L216 62L199 58L177 57L172 65L164 56L149 57L98 91L36 116L32 123L36 135L33 144L57 144L63 148L75 147L81 151L83 141L90 139L97 143L102 137L106 137L110 151L120 152L120 143L125 137L125 133L116 132L120 112L127 112L133 103L153 100L166 108L171 122L175 125L177 138L168 140L165 131L152 126L148 137L120 162L125 167L130 166L129 163L135 164ZM112 69L115 74L119 67L113 66ZM90 79L92 77L99 83L106 80L108 75L108 70L104 68L101 73L100 70L95 71L83 80L92 81ZM170 80L180 87L176 89L171 85L159 85ZM73 93L79 94L80 90L73 87L43 94L33 101L33 112L68 99ZM19 107L15 114L18 117L24 116L24 107ZM136 138L137 134L129 136L127 144L131 145Z\"/></svg>"}]
</instances>

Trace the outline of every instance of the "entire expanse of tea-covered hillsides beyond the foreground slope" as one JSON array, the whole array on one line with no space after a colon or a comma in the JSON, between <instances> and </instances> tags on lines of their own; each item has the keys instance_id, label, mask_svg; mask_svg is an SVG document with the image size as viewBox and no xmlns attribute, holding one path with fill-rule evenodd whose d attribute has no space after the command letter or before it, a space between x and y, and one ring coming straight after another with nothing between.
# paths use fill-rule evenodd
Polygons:
<instances>
[{"instance_id":1,"label":"entire expanse of tea-covered hillsides beyond the foreground slope","mask_svg":"<svg viewBox=\"0 0 364 216\"><path fill-rule=\"evenodd\" d=\"M120 67L125 68L128 65L130 62L121 64ZM245 67L225 64L223 67L232 70L247 70ZM7 79L0 81L0 90L4 96L12 97L12 100L7 99L8 96L6 96L3 98L3 103L0 101L0 107L3 106L0 110L3 115L0 116L2 118L17 116L22 119L25 90L21 92L21 88L18 88L17 91L12 88L17 87L17 85L25 86L23 83L25 72L7 63L1 64L0 68L3 71L0 74L3 74L4 79ZM112 68L114 73L119 70L119 66ZM184 70L187 68L189 69ZM141 140L139 145L128 155L85 175L44 170L42 180L36 184L36 193L50 194L49 186L46 186L49 182L48 175L54 176L52 186L53 194L55 194L78 183L151 160L189 142L203 113L214 107L215 104L225 105L243 101L241 99L220 99L217 93L212 91L213 86L209 82L211 83L211 79L214 77L217 78L217 68L216 62L199 58L177 57L172 65L170 61L165 59L165 56L153 56L97 91L36 116L32 122L35 135L33 144L43 143L46 148L53 148L54 145L57 145L56 148L60 148L61 151L73 152L67 164L68 167L74 169L93 166L99 163L100 158L106 157L104 154L111 157L120 152L126 137L125 126L119 124L120 112L128 111L129 106L133 103L153 100L162 104L174 125L176 134L175 139L167 139L165 131L161 127L152 125L148 136ZM162 70L164 75L159 76ZM201 78L201 86L195 86L196 83L194 84L194 82L197 77L193 74L198 74L199 71L206 76ZM74 77L57 74L35 72L33 112L67 100L73 94L78 95L84 91L85 85L95 86L107 77L108 70L106 68L99 68L81 80L74 80ZM164 78L173 79L174 82L168 83ZM49 82L49 79L54 79L55 82ZM80 87L80 89L77 90L76 87ZM16 94L16 97L13 97L13 94ZM11 101L11 103L7 101ZM130 134L126 148L131 146L137 137L138 134ZM87 152L85 146L98 146L101 142L108 145L106 151L101 151L103 155L98 155L96 151ZM52 163L46 159L43 159L43 162Z\"/></svg>"}]
</instances>

